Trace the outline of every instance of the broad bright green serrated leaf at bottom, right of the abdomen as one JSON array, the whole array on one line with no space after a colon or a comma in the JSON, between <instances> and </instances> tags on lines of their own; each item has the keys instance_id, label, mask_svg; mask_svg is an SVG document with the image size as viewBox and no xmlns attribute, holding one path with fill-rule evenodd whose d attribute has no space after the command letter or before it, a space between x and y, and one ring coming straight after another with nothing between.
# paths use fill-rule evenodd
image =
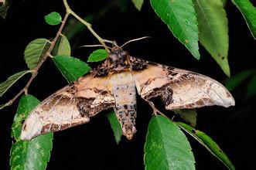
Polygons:
<instances>
[{"instance_id":1,"label":"broad bright green serrated leaf at bottom, right of the abdomen","mask_svg":"<svg viewBox=\"0 0 256 170\"><path fill-rule=\"evenodd\" d=\"M152 117L144 151L145 169L195 169L189 141L166 117Z\"/></svg>"}]
</instances>

